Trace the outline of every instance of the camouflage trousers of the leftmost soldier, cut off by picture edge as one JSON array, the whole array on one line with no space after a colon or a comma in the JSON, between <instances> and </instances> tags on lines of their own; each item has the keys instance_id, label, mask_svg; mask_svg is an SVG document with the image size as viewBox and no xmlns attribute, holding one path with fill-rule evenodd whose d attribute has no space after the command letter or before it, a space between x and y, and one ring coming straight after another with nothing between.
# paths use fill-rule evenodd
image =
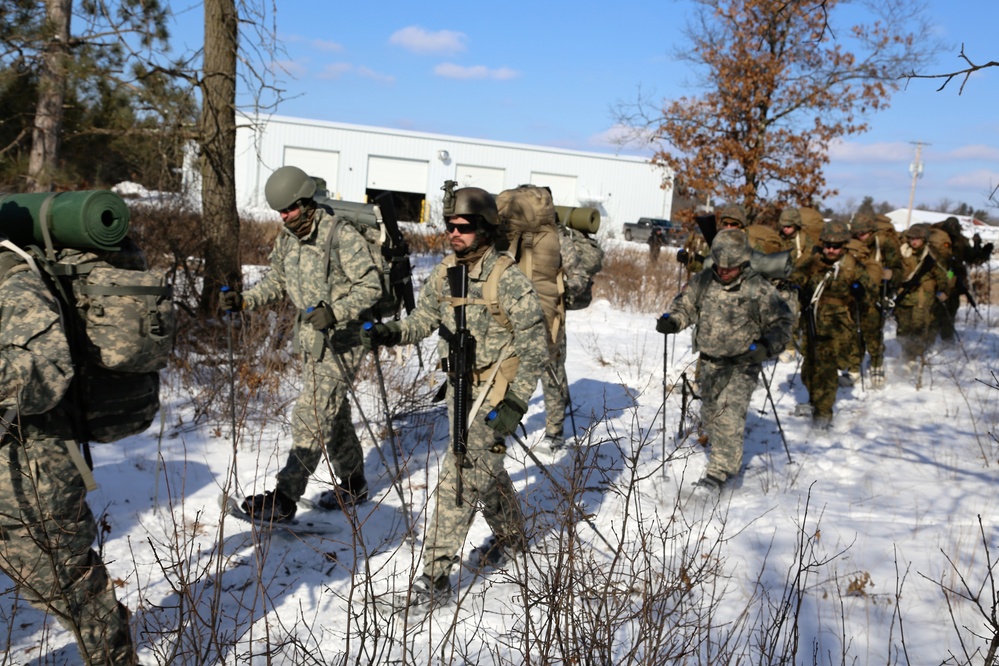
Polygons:
<instances>
[{"instance_id":1,"label":"camouflage trousers of the leftmost soldier, cut off by picture edge","mask_svg":"<svg viewBox=\"0 0 999 666\"><path fill-rule=\"evenodd\" d=\"M0 447L0 569L76 637L83 662L131 666L128 610L91 548L97 522L83 478L58 439Z\"/></svg>"}]
</instances>

